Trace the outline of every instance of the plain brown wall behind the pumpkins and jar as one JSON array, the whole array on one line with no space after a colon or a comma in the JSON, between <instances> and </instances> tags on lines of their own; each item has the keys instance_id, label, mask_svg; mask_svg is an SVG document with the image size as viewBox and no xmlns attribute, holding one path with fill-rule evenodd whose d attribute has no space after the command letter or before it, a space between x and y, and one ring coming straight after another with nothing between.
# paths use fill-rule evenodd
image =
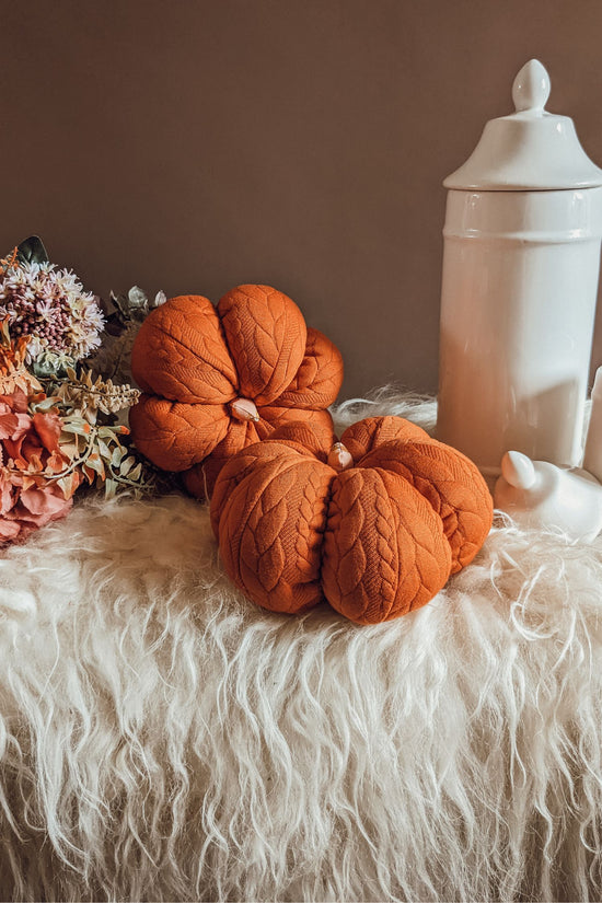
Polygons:
<instances>
[{"instance_id":1,"label":"plain brown wall behind the pumpkins and jar","mask_svg":"<svg viewBox=\"0 0 602 903\"><path fill-rule=\"evenodd\" d=\"M600 0L1 0L0 248L289 293L344 396L437 386L443 177L531 57L602 164ZM594 363L602 362L602 317Z\"/></svg>"}]
</instances>

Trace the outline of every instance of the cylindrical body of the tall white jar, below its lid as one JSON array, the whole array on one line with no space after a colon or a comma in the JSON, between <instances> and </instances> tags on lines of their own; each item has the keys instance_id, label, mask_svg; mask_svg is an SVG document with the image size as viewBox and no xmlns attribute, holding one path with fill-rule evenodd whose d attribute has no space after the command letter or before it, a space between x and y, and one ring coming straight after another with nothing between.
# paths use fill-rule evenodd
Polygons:
<instances>
[{"instance_id":1,"label":"cylindrical body of the tall white jar, below its lid","mask_svg":"<svg viewBox=\"0 0 602 903\"><path fill-rule=\"evenodd\" d=\"M437 435L486 475L518 449L577 464L602 188L450 192Z\"/></svg>"}]
</instances>

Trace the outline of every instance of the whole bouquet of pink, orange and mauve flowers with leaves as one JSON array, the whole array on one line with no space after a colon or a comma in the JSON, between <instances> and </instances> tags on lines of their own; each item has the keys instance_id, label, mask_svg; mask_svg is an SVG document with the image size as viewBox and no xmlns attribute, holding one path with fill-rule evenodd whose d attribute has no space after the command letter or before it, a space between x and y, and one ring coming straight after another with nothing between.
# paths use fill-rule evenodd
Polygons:
<instances>
[{"instance_id":1,"label":"whole bouquet of pink, orange and mauve flowers with leaves","mask_svg":"<svg viewBox=\"0 0 602 903\"><path fill-rule=\"evenodd\" d=\"M136 287L105 315L35 236L0 261L0 544L63 517L85 486L157 489L124 422L140 394L124 380L128 347L150 306Z\"/></svg>"}]
</instances>

